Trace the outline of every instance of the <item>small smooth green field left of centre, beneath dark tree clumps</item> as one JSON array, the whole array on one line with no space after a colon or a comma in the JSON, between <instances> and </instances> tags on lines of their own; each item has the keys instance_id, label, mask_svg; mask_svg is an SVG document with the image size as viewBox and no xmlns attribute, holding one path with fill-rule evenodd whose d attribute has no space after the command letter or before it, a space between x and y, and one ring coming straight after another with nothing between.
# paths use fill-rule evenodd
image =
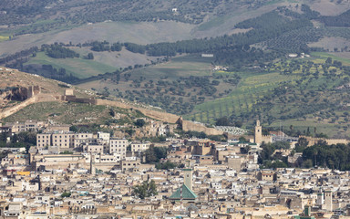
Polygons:
<instances>
[{"instance_id":1,"label":"small smooth green field left of centre, beneath dark tree clumps","mask_svg":"<svg viewBox=\"0 0 350 219\"><path fill-rule=\"evenodd\" d=\"M47 57L44 52L39 52L36 57L31 57L26 65L52 65L53 68L65 68L68 74L72 74L77 78L88 78L104 74L106 72L113 72L116 68L106 64L79 58L52 58Z\"/></svg>"}]
</instances>

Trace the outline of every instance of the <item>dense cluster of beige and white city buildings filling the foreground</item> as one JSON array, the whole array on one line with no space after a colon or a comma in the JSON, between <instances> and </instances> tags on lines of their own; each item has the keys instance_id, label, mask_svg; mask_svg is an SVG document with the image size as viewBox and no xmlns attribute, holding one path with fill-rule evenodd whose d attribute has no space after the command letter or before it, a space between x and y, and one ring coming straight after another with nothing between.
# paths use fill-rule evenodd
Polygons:
<instances>
[{"instance_id":1,"label":"dense cluster of beige and white city buildings filling the foreground","mask_svg":"<svg viewBox=\"0 0 350 219\"><path fill-rule=\"evenodd\" d=\"M272 139L259 123L252 142L150 143L51 127L1 160L0 218L347 218L350 172L261 170L259 141ZM146 163L153 146L178 167ZM134 187L144 182L158 193L140 199Z\"/></svg>"}]
</instances>

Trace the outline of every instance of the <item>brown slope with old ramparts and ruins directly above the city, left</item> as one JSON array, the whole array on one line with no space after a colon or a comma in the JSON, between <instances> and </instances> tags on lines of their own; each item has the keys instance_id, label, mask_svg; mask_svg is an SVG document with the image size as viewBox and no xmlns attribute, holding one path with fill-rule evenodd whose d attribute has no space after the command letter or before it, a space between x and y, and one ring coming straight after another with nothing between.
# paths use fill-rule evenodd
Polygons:
<instances>
[{"instance_id":1,"label":"brown slope with old ramparts and ruins directly above the city, left","mask_svg":"<svg viewBox=\"0 0 350 219\"><path fill-rule=\"evenodd\" d=\"M180 118L175 114L123 99L99 99L91 90L72 87L15 69L0 68L0 81L4 86L1 87L4 89L0 89L0 122L49 120L128 132L138 118L165 123L176 123ZM67 89L70 89L68 96L65 94ZM72 91L74 96L71 96ZM180 120L180 128L184 131L203 131L208 135L223 133L188 120Z\"/></svg>"}]
</instances>

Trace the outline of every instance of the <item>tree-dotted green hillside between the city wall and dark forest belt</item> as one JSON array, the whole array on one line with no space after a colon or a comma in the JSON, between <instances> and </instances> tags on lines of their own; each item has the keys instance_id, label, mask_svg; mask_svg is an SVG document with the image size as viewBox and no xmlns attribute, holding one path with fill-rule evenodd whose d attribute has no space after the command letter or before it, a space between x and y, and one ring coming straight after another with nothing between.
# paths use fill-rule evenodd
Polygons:
<instances>
[{"instance_id":1,"label":"tree-dotted green hillside between the city wall and dark forest belt","mask_svg":"<svg viewBox=\"0 0 350 219\"><path fill-rule=\"evenodd\" d=\"M134 70L129 80L121 75L118 82L108 77L80 86L180 112L188 120L213 123L227 116L249 126L261 118L266 126L279 128L283 123L289 129L293 124L302 134L317 127L330 136L345 137L350 134L348 103L342 97L349 90L349 66L344 58L313 53L266 68L230 72L212 70L210 59L182 57Z\"/></svg>"}]
</instances>

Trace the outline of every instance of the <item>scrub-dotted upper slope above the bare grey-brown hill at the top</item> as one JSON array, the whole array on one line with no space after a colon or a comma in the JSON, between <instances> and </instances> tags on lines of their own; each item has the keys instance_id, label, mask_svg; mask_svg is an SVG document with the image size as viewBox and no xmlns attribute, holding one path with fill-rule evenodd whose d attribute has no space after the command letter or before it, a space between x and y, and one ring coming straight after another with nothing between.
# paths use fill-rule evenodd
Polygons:
<instances>
[{"instance_id":1,"label":"scrub-dotted upper slope above the bare grey-brown hill at the top","mask_svg":"<svg viewBox=\"0 0 350 219\"><path fill-rule=\"evenodd\" d=\"M264 5L254 1L252 8ZM246 1L168 0L168 1L34 1L5 0L0 3L0 25L26 25L14 28L15 36L47 32L62 26L79 26L104 21L157 22L172 20L200 24L206 16L222 16Z\"/></svg>"}]
</instances>

